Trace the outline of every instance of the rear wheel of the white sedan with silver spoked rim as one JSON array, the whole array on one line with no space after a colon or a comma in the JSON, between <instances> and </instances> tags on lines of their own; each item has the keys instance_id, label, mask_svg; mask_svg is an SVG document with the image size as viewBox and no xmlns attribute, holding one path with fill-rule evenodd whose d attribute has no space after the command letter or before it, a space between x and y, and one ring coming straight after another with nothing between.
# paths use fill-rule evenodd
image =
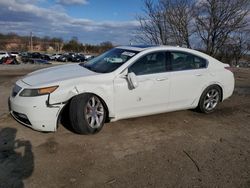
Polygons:
<instances>
[{"instance_id":1,"label":"rear wheel of the white sedan with silver spoked rim","mask_svg":"<svg viewBox=\"0 0 250 188\"><path fill-rule=\"evenodd\" d=\"M198 109L203 113L211 113L218 106L222 94L219 86L212 85L208 87L201 95Z\"/></svg>"}]
</instances>

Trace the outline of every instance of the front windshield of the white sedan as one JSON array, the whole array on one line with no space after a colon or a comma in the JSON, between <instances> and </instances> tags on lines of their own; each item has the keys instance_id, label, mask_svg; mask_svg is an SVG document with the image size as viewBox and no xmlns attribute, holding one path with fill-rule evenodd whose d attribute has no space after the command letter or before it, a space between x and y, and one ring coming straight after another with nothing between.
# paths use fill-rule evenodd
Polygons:
<instances>
[{"instance_id":1,"label":"front windshield of the white sedan","mask_svg":"<svg viewBox=\"0 0 250 188\"><path fill-rule=\"evenodd\" d=\"M109 73L116 70L137 53L132 50L114 48L89 60L87 63L80 63L80 65L94 72Z\"/></svg>"}]
</instances>

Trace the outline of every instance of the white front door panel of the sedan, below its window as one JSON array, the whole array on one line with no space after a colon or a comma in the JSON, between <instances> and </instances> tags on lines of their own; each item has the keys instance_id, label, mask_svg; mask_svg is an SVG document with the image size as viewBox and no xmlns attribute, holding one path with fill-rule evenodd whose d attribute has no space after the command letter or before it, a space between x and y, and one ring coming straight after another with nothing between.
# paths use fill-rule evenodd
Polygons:
<instances>
[{"instance_id":1,"label":"white front door panel of the sedan, below its window","mask_svg":"<svg viewBox=\"0 0 250 188\"><path fill-rule=\"evenodd\" d=\"M138 87L128 89L127 81L117 77L114 81L115 118L137 117L145 114L160 113L167 110L170 73L138 76ZM157 79L162 79L158 81ZM123 97L124 96L124 97ZM125 97L126 96L126 97Z\"/></svg>"}]
</instances>

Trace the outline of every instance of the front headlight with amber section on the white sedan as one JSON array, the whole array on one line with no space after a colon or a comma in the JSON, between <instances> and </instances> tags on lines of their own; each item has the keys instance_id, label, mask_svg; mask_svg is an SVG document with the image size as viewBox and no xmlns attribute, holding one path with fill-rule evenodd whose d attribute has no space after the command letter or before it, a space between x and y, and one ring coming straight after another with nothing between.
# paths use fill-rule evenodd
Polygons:
<instances>
[{"instance_id":1,"label":"front headlight with amber section on the white sedan","mask_svg":"<svg viewBox=\"0 0 250 188\"><path fill-rule=\"evenodd\" d=\"M35 97L40 95L47 95L54 92L58 86L44 87L38 89L24 89L19 95L21 97Z\"/></svg>"}]
</instances>

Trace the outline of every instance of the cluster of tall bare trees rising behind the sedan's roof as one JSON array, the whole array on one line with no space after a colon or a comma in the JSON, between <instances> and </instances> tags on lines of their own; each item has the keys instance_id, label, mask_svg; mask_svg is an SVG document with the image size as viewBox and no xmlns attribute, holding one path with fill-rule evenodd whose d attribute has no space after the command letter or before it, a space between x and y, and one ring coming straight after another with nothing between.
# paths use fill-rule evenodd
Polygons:
<instances>
[{"instance_id":1,"label":"cluster of tall bare trees rising behind the sedan's roof","mask_svg":"<svg viewBox=\"0 0 250 188\"><path fill-rule=\"evenodd\" d=\"M249 0L144 0L137 41L195 48L235 64L250 50Z\"/></svg>"}]
</instances>

